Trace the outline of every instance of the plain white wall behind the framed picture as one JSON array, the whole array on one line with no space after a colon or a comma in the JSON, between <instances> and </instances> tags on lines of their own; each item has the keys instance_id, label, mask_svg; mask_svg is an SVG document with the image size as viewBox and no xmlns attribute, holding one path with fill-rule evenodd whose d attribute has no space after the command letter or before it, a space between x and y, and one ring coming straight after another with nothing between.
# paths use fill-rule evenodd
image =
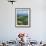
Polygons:
<instances>
[{"instance_id":1,"label":"plain white wall behind the framed picture","mask_svg":"<svg viewBox=\"0 0 46 46\"><path fill-rule=\"evenodd\" d=\"M19 32L31 35L33 40L46 40L46 14L43 0L17 0L13 5L0 0L0 40L15 40ZM15 27L15 8L31 8L31 27Z\"/></svg>"}]
</instances>

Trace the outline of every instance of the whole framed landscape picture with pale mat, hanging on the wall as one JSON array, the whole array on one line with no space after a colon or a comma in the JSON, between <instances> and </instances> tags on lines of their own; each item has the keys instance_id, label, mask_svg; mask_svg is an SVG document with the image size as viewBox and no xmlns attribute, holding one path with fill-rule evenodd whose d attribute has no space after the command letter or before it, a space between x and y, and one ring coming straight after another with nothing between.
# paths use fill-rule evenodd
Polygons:
<instances>
[{"instance_id":1,"label":"whole framed landscape picture with pale mat, hanging on the wall","mask_svg":"<svg viewBox=\"0 0 46 46\"><path fill-rule=\"evenodd\" d=\"M16 8L15 9L15 26L30 27L31 26L30 16L31 16L30 8Z\"/></svg>"}]
</instances>

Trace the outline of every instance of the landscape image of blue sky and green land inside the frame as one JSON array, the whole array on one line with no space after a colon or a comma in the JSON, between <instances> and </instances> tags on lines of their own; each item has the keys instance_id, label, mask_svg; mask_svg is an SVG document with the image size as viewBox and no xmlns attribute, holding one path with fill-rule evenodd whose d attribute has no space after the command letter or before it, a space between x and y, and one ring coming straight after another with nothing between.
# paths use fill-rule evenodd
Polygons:
<instances>
[{"instance_id":1,"label":"landscape image of blue sky and green land inside the frame","mask_svg":"<svg viewBox=\"0 0 46 46\"><path fill-rule=\"evenodd\" d=\"M19 9L17 11L17 25L28 25L28 10Z\"/></svg>"}]
</instances>

